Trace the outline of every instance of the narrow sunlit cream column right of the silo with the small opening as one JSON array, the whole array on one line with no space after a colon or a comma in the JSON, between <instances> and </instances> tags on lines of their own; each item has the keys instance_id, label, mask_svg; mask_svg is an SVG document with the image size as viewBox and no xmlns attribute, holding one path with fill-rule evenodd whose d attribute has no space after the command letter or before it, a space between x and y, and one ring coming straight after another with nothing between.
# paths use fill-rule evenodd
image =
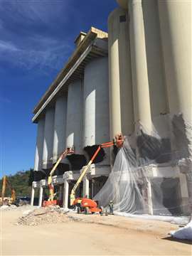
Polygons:
<instances>
[{"instance_id":1,"label":"narrow sunlit cream column right of the silo with the small opening","mask_svg":"<svg viewBox=\"0 0 192 256\"><path fill-rule=\"evenodd\" d=\"M151 109L149 98L149 80L146 65L142 0L129 1L129 16L134 122L140 122L146 131L150 133Z\"/></svg>"}]
</instances>

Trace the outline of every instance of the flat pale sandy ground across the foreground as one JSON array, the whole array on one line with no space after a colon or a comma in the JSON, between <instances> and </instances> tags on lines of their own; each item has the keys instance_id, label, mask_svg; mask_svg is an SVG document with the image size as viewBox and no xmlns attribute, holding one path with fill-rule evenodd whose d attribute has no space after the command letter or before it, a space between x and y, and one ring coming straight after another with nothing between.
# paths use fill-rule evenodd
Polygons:
<instances>
[{"instance_id":1,"label":"flat pale sandy ground across the foreground","mask_svg":"<svg viewBox=\"0 0 192 256\"><path fill-rule=\"evenodd\" d=\"M169 237L178 225L70 213L65 223L15 225L23 211L1 210L1 255L192 255L190 242Z\"/></svg>"}]
</instances>

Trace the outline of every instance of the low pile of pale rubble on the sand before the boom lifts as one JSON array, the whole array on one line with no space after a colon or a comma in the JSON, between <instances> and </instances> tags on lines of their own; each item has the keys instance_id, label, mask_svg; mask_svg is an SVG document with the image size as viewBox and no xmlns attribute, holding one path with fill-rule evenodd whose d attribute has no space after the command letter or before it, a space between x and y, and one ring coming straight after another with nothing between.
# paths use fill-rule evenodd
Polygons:
<instances>
[{"instance_id":1,"label":"low pile of pale rubble on the sand before the boom lifts","mask_svg":"<svg viewBox=\"0 0 192 256\"><path fill-rule=\"evenodd\" d=\"M36 208L18 219L16 225L42 225L47 223L66 223L69 220L67 211L59 206Z\"/></svg>"}]
</instances>

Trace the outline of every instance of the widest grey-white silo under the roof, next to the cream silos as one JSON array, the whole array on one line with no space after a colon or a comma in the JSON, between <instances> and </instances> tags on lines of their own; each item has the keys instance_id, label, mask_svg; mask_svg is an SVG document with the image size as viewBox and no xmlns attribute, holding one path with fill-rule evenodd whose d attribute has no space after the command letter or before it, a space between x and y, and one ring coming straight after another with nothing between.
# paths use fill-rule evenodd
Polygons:
<instances>
[{"instance_id":1,"label":"widest grey-white silo under the roof, next to the cream silos","mask_svg":"<svg viewBox=\"0 0 192 256\"><path fill-rule=\"evenodd\" d=\"M92 154L90 146L110 140L108 90L108 58L96 58L87 63L84 72L83 147L88 154ZM109 156L106 163L110 164Z\"/></svg>"}]
</instances>

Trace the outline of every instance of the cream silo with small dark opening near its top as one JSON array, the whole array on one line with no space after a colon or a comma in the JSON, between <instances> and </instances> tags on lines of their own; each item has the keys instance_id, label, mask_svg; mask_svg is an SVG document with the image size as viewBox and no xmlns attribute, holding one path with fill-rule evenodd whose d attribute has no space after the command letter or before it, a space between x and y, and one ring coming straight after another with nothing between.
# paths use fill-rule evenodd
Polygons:
<instances>
[{"instance_id":1,"label":"cream silo with small dark opening near its top","mask_svg":"<svg viewBox=\"0 0 192 256\"><path fill-rule=\"evenodd\" d=\"M121 8L108 18L110 78L110 136L134 131L129 17Z\"/></svg>"}]
</instances>

